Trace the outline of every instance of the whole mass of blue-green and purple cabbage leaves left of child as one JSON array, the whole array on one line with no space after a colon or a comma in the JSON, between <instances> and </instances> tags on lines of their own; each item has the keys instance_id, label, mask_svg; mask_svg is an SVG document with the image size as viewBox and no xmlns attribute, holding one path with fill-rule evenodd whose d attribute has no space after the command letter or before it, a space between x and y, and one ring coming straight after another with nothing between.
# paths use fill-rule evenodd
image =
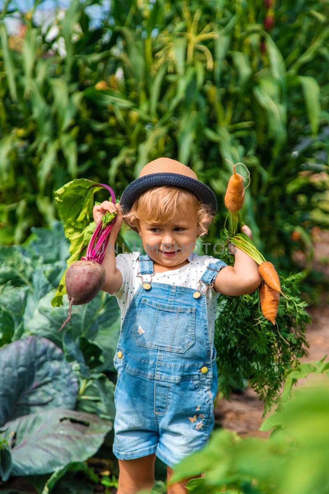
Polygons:
<instances>
[{"instance_id":1,"label":"whole mass of blue-green and purple cabbage leaves left of child","mask_svg":"<svg viewBox=\"0 0 329 494\"><path fill-rule=\"evenodd\" d=\"M69 256L59 222L52 230L34 229L23 246L0 247L0 367L2 376L10 374L0 386L3 480L10 472L49 474L72 461L87 459L97 452L112 428L115 409L111 378L115 380L113 355L120 314L116 300L101 292L74 312L73 322L65 331L58 331L69 304L66 297L63 306L54 308L51 299ZM69 381L65 372L69 372ZM50 420L52 425L47 429ZM57 435L52 434L54 430ZM60 449L62 455L55 454L56 441L64 445L61 430L71 436L66 450ZM88 430L91 447L83 441ZM36 453L35 441L40 448L49 449L47 457ZM53 441L53 449L49 441ZM83 454L79 448L84 449Z\"/></svg>"}]
</instances>

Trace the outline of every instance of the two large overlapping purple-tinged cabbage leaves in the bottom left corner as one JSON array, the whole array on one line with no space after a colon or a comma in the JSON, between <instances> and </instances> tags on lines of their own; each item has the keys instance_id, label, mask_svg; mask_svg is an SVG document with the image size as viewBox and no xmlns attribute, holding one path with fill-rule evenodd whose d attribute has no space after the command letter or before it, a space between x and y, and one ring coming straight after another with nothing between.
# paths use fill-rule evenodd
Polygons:
<instances>
[{"instance_id":1,"label":"two large overlapping purple-tinged cabbage leaves in the bottom left corner","mask_svg":"<svg viewBox=\"0 0 329 494\"><path fill-rule=\"evenodd\" d=\"M113 422L96 413L73 411L77 376L64 352L47 338L31 335L0 348L0 374L3 481L84 461L112 429Z\"/></svg>"}]
</instances>

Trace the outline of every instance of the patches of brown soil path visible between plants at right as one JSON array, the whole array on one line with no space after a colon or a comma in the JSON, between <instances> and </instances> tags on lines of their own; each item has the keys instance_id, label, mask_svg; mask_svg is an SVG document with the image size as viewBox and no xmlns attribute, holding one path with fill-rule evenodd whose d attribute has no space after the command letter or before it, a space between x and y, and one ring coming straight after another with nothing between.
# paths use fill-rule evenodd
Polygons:
<instances>
[{"instance_id":1,"label":"patches of brown soil path visible between plants at right","mask_svg":"<svg viewBox=\"0 0 329 494\"><path fill-rule=\"evenodd\" d=\"M313 245L315 255L312 268L324 273L329 279L329 231L313 229ZM299 251L296 260L303 267L303 253ZM329 355L329 294L322 295L321 304L316 307L307 307L312 323L307 325L307 340L310 344L309 356L301 359L302 362L319 361ZM303 383L299 381L299 385ZM275 410L275 407L273 411ZM233 393L231 400L222 399L215 407L215 420L226 429L236 431L240 436L257 436L266 438L270 432L258 430L263 421L264 407L259 401L256 392L247 388L243 393Z\"/></svg>"}]
</instances>

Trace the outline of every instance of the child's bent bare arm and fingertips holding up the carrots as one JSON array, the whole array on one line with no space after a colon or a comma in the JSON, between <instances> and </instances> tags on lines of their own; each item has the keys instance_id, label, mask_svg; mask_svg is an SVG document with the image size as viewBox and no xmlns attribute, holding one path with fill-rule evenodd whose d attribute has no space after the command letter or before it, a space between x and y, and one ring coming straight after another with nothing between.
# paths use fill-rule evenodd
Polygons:
<instances>
[{"instance_id":1,"label":"child's bent bare arm and fingertips holding up the carrots","mask_svg":"<svg viewBox=\"0 0 329 494\"><path fill-rule=\"evenodd\" d=\"M253 234L248 226L242 231L253 239ZM258 273L258 264L248 254L237 247L235 249L234 266L225 266L219 271L214 290L223 295L238 296L254 293L261 283Z\"/></svg>"}]
</instances>

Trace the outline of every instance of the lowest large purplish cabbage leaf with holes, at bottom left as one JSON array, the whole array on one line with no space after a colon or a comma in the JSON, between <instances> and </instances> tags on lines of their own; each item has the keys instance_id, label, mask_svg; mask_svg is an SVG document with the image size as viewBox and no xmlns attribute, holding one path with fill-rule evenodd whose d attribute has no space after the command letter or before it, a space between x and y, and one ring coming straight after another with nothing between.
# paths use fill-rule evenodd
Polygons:
<instances>
[{"instance_id":1,"label":"lowest large purplish cabbage leaf with holes, at bottom left","mask_svg":"<svg viewBox=\"0 0 329 494\"><path fill-rule=\"evenodd\" d=\"M1 439L8 442L12 463L1 480L51 474L73 461L86 461L97 453L112 425L94 413L60 408L10 420L2 427Z\"/></svg>"}]
</instances>

